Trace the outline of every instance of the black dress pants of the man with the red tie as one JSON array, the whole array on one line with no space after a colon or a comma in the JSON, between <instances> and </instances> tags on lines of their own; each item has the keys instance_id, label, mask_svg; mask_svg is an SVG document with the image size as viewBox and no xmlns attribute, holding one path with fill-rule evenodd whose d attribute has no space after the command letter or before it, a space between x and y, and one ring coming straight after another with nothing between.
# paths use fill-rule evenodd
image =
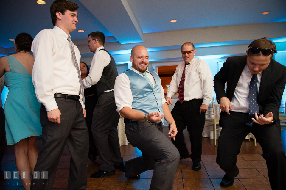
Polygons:
<instances>
[{"instance_id":1,"label":"black dress pants of the man with the red tie","mask_svg":"<svg viewBox=\"0 0 286 190\"><path fill-rule=\"evenodd\" d=\"M202 133L206 121L206 112L200 114L202 103L203 99L193 99L185 101L182 104L177 101L171 111L178 129L175 137L176 140L172 139L172 143L179 150L181 158L189 156L183 134L183 130L187 127L190 134L192 151L190 158L193 162L200 162L202 155Z\"/></svg>"}]
</instances>

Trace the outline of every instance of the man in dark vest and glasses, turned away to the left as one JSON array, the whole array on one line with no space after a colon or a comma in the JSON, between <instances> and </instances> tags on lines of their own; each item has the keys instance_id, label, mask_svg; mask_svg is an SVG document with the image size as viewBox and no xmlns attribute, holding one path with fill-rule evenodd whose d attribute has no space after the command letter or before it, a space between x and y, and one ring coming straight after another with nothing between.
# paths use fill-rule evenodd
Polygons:
<instances>
[{"instance_id":1,"label":"man in dark vest and glasses, turned away to the left","mask_svg":"<svg viewBox=\"0 0 286 190\"><path fill-rule=\"evenodd\" d=\"M119 149L117 125L119 114L114 100L114 82L118 76L113 57L103 48L105 36L102 32L88 34L88 47L95 53L89 74L83 79L83 87L96 84L98 101L92 118L91 131L96 142L100 169L91 178L111 175L123 162Z\"/></svg>"}]
</instances>

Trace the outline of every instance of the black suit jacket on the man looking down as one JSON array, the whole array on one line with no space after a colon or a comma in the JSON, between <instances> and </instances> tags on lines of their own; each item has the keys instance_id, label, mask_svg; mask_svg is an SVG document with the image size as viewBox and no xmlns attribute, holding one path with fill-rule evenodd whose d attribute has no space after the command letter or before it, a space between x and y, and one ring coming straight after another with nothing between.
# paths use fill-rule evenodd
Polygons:
<instances>
[{"instance_id":1,"label":"black suit jacket on the man looking down","mask_svg":"<svg viewBox=\"0 0 286 190\"><path fill-rule=\"evenodd\" d=\"M220 98L224 96L229 98L230 101L232 100L234 90L246 65L246 59L247 56L229 57L220 71L215 75L214 87L218 103ZM227 84L226 92L224 90L225 83ZM257 99L259 113L266 115L269 112L273 112L273 117L276 122L271 124L275 124L279 131L280 120L278 114L285 83L286 67L272 59L268 67L262 72ZM254 124L257 125L256 123Z\"/></svg>"}]
</instances>

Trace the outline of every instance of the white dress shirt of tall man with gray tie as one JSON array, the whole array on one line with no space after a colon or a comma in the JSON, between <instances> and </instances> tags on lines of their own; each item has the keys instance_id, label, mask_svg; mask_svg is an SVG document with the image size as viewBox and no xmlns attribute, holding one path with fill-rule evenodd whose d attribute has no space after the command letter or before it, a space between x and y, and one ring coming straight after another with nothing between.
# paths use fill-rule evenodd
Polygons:
<instances>
[{"instance_id":1,"label":"white dress shirt of tall man with gray tie","mask_svg":"<svg viewBox=\"0 0 286 190\"><path fill-rule=\"evenodd\" d=\"M81 91L68 37L66 32L54 26L39 32L32 43L35 58L32 80L36 96L47 111L58 108L54 94L79 95ZM80 68L80 51L73 46ZM80 103L84 108L82 96Z\"/></svg>"}]
</instances>

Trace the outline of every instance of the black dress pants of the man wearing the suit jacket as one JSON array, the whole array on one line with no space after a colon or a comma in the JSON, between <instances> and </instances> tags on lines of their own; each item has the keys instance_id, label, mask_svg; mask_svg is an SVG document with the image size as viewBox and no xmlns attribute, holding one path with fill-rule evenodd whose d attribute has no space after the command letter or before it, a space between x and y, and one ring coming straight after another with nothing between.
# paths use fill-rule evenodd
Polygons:
<instances>
[{"instance_id":1,"label":"black dress pants of the man wearing the suit jacket","mask_svg":"<svg viewBox=\"0 0 286 190\"><path fill-rule=\"evenodd\" d=\"M276 125L245 125L248 113L221 112L220 136L218 138L217 164L226 174L224 179L232 179L237 172L237 155L248 133L252 133L263 150L271 188L286 189L286 156L282 149L281 136Z\"/></svg>"}]
</instances>

